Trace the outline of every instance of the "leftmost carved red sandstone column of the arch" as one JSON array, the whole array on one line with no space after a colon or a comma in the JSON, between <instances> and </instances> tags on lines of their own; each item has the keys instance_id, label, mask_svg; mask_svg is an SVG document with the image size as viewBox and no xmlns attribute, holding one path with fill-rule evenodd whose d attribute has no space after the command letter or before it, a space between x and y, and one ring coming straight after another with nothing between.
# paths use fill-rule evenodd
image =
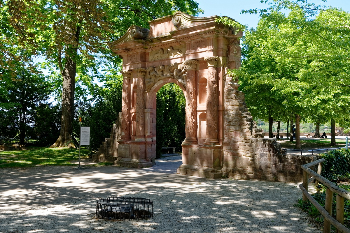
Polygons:
<instances>
[{"instance_id":1,"label":"leftmost carved red sandstone column of the arch","mask_svg":"<svg viewBox=\"0 0 350 233\"><path fill-rule=\"evenodd\" d=\"M121 97L121 140L130 140L130 77L131 70L125 70L121 72L123 74L123 94Z\"/></svg>"}]
</instances>

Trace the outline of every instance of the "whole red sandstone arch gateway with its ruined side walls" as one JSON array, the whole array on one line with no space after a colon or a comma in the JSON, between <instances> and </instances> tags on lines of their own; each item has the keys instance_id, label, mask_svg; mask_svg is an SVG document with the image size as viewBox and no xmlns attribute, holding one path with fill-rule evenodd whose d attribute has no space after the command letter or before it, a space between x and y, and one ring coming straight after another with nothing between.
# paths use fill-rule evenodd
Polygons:
<instances>
[{"instance_id":1,"label":"whole red sandstone arch gateway with its ruined side walls","mask_svg":"<svg viewBox=\"0 0 350 233\"><path fill-rule=\"evenodd\" d=\"M217 23L218 16L182 12L131 26L112 43L123 58L122 112L93 159L117 166L155 164L156 92L174 82L186 98L186 138L177 173L202 177L290 180L290 167L274 139L257 129L228 69L240 67L241 31ZM278 148L277 148L278 149ZM295 164L292 158L292 164Z\"/></svg>"}]
</instances>

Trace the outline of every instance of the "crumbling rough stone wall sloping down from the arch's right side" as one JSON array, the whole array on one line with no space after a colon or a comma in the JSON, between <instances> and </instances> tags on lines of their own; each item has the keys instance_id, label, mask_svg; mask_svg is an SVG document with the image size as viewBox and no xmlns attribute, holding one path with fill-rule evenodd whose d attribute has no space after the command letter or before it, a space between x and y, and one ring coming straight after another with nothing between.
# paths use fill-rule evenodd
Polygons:
<instances>
[{"instance_id":1,"label":"crumbling rough stone wall sloping down from the arch's right side","mask_svg":"<svg viewBox=\"0 0 350 233\"><path fill-rule=\"evenodd\" d=\"M317 156L286 155L276 139L262 137L235 84L225 85L224 176L233 179L302 181L302 164Z\"/></svg>"}]
</instances>

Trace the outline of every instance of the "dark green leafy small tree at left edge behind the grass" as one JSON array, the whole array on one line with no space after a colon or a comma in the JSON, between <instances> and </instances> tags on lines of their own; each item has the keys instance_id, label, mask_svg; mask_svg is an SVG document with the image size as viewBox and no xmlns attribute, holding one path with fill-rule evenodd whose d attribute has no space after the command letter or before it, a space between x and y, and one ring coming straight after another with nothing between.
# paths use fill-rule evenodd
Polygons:
<instances>
[{"instance_id":1,"label":"dark green leafy small tree at left edge behind the grass","mask_svg":"<svg viewBox=\"0 0 350 233\"><path fill-rule=\"evenodd\" d=\"M35 136L36 108L49 98L51 86L42 74L19 70L17 75L10 83L0 80L0 89L6 89L0 93L0 143L12 139L23 144Z\"/></svg>"}]
</instances>

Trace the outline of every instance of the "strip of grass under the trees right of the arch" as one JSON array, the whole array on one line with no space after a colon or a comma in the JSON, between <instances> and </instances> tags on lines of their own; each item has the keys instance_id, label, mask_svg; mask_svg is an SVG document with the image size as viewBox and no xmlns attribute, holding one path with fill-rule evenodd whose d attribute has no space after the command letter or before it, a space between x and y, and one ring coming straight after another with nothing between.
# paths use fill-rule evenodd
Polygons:
<instances>
[{"instance_id":1,"label":"strip of grass under the trees right of the arch","mask_svg":"<svg viewBox=\"0 0 350 233\"><path fill-rule=\"evenodd\" d=\"M318 140L300 140L301 148L335 148L345 147L345 140L336 140L337 146L330 146L330 139L318 139ZM281 147L295 147L295 139L293 142L285 140L281 142Z\"/></svg>"}]
</instances>

